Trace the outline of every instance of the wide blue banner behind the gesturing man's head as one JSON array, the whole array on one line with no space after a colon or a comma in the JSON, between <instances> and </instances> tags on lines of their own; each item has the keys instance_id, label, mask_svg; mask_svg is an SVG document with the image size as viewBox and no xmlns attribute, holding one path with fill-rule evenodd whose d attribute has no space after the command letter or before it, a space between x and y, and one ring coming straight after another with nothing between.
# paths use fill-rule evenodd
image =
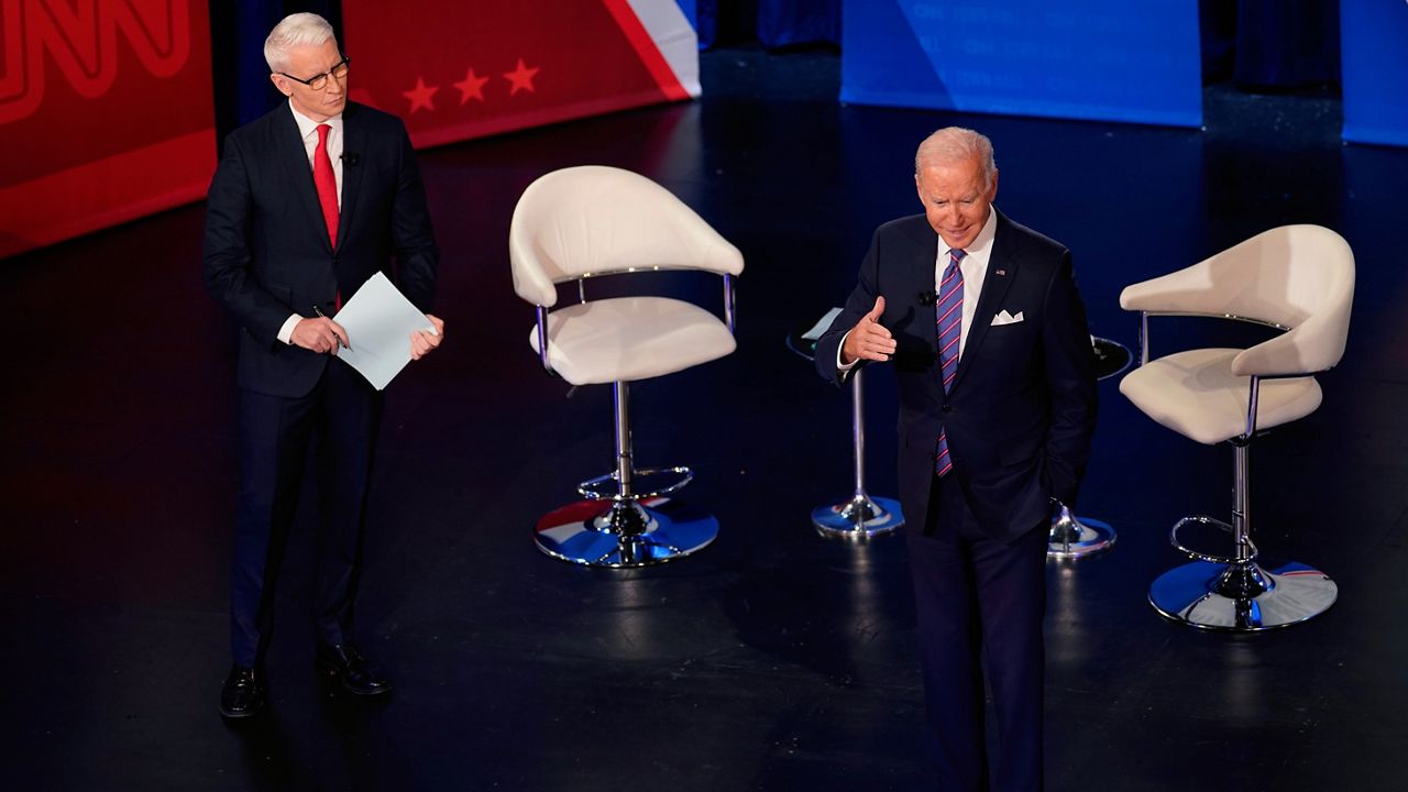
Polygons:
<instances>
[{"instance_id":1,"label":"wide blue banner behind the gesturing man's head","mask_svg":"<svg viewBox=\"0 0 1408 792\"><path fill-rule=\"evenodd\" d=\"M841 100L1198 127L1190 0L845 0Z\"/></svg>"}]
</instances>

